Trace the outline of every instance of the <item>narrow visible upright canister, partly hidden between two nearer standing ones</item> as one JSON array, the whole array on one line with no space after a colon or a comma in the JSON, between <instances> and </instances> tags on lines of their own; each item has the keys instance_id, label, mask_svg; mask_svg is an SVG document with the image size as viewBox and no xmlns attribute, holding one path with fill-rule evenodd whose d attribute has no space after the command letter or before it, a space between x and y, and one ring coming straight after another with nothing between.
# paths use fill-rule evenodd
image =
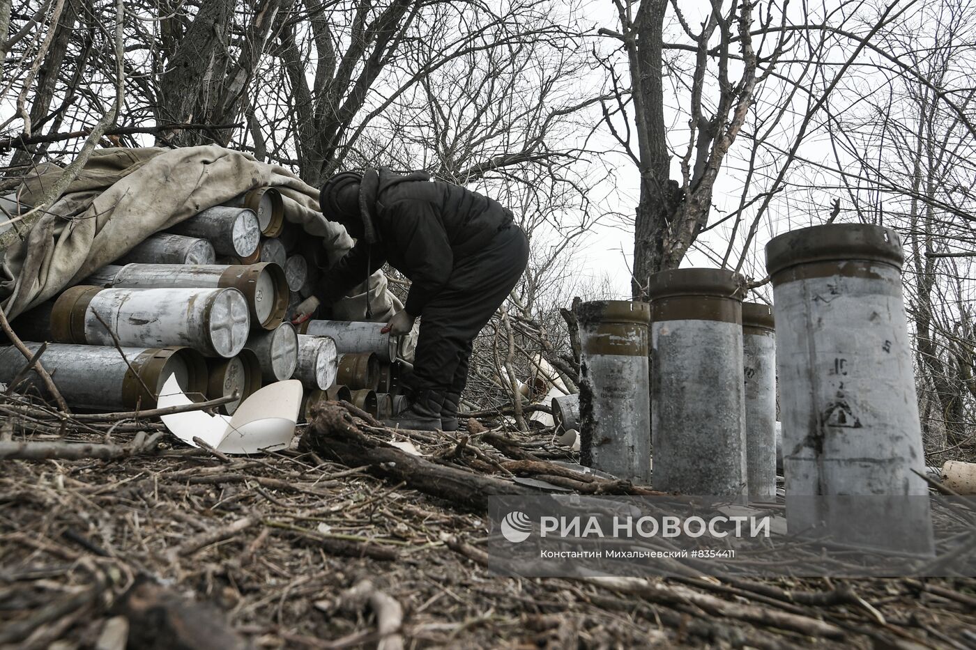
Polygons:
<instances>
[{"instance_id":1,"label":"narrow visible upright canister, partly hidden between two nearer standing ones","mask_svg":"<svg viewBox=\"0 0 976 650\"><path fill-rule=\"evenodd\" d=\"M773 309L742 305L746 474L751 497L776 496L776 329Z\"/></svg>"}]
</instances>

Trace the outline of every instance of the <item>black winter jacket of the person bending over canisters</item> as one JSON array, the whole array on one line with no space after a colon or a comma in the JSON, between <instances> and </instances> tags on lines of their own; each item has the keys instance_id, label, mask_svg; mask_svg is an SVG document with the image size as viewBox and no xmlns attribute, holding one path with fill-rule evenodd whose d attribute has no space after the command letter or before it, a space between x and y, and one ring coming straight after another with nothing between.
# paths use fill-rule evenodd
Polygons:
<instances>
[{"instance_id":1,"label":"black winter jacket of the person bending over canisters","mask_svg":"<svg viewBox=\"0 0 976 650\"><path fill-rule=\"evenodd\" d=\"M512 221L511 211L493 199L418 177L381 173L376 207L370 211L378 241L370 246L359 239L323 277L326 305L388 262L412 281L404 308L420 316L447 284L454 261L476 253Z\"/></svg>"}]
</instances>

